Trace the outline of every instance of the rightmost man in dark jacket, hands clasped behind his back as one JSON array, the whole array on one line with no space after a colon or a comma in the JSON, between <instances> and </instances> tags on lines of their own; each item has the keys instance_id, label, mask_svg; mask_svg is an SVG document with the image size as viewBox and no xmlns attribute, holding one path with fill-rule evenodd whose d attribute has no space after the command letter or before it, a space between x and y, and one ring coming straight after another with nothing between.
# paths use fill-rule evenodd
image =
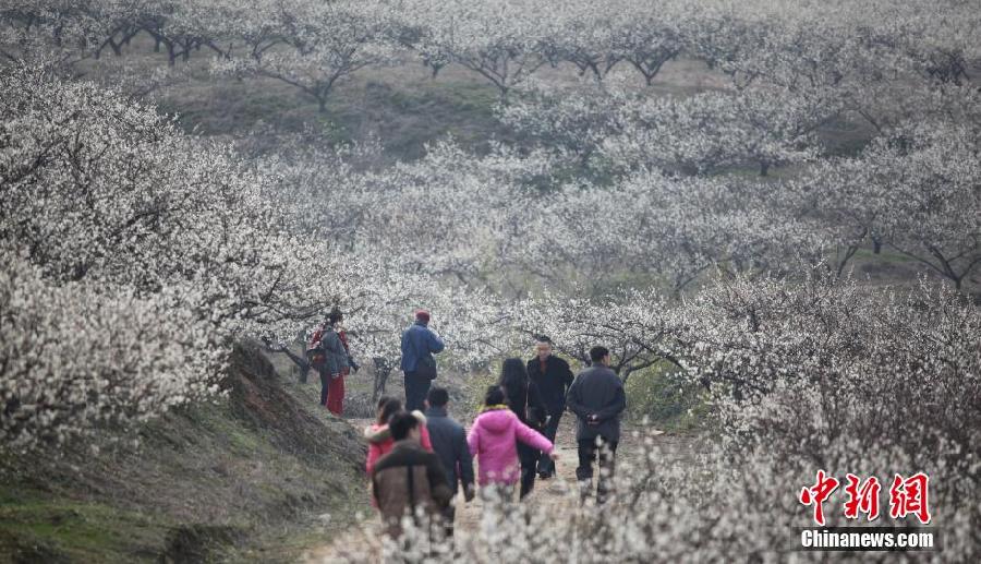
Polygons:
<instances>
[{"instance_id":1,"label":"rightmost man in dark jacket, hands clasped behind his back","mask_svg":"<svg viewBox=\"0 0 981 564\"><path fill-rule=\"evenodd\" d=\"M620 442L620 416L627 408L623 383L609 368L609 350L606 347L590 349L593 365L576 376L566 398L569 410L579 418L576 440L579 443L580 493L585 500L593 489L593 460L600 455L600 484L596 502L606 501L614 475L614 457ZM603 471L606 469L607 471Z\"/></svg>"}]
</instances>

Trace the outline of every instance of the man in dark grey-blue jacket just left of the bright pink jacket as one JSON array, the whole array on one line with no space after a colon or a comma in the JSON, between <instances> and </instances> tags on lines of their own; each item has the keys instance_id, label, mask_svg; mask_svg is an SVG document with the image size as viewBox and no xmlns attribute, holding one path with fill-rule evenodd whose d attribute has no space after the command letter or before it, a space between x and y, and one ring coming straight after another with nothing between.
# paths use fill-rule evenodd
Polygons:
<instances>
[{"instance_id":1,"label":"man in dark grey-blue jacket just left of the bright pink jacket","mask_svg":"<svg viewBox=\"0 0 981 564\"><path fill-rule=\"evenodd\" d=\"M470 448L467 446L467 432L463 425L452 420L447 415L449 393L446 388L434 387L426 397L426 430L429 432L429 441L433 443L433 452L443 461L443 469L449 479L450 491L453 497L463 485L463 495L467 501L473 500L473 459ZM457 511L451 503L443 513L447 537L453 535L453 518Z\"/></svg>"}]
</instances>

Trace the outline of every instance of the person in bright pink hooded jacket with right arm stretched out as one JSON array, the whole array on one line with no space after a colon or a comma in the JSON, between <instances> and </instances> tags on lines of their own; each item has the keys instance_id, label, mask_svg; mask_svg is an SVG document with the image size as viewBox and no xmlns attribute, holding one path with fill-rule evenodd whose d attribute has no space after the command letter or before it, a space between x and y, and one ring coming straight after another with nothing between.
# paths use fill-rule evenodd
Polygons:
<instances>
[{"instance_id":1,"label":"person in bright pink hooded jacket with right arm stretched out","mask_svg":"<svg viewBox=\"0 0 981 564\"><path fill-rule=\"evenodd\" d=\"M542 451L555 460L554 445L534 429L522 423L506 405L500 386L487 388L484 408L474 420L467 442L470 454L477 458L477 481L484 490L498 490L506 499L513 496L521 467L518 464L518 442Z\"/></svg>"}]
</instances>

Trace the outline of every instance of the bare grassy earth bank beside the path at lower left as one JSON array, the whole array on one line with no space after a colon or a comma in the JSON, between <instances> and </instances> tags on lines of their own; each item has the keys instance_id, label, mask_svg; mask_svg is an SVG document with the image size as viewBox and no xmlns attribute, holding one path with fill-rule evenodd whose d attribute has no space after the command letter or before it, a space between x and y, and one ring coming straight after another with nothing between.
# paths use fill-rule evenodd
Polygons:
<instances>
[{"instance_id":1,"label":"bare grassy earth bank beside the path at lower left","mask_svg":"<svg viewBox=\"0 0 981 564\"><path fill-rule=\"evenodd\" d=\"M0 562L295 560L363 504L363 446L251 346L228 399L98 453L25 460L0 487Z\"/></svg>"}]
</instances>

